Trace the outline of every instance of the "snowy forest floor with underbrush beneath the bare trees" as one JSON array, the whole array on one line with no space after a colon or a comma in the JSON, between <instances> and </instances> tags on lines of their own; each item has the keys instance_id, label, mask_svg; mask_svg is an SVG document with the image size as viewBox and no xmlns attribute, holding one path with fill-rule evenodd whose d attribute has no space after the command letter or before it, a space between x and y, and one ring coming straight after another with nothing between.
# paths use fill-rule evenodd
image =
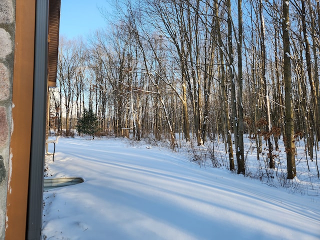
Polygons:
<instances>
[{"instance_id":1,"label":"snowy forest floor with underbrush beneath the bare trees","mask_svg":"<svg viewBox=\"0 0 320 240\"><path fill-rule=\"evenodd\" d=\"M101 135L97 138L104 137L114 137L114 135ZM163 147L171 149L172 151L184 154L189 161L194 162L199 165L199 167L214 167L229 170L229 158L226 144L219 138L207 141L200 146L197 146L195 139L188 142L178 140L178 144L172 146L168 139L156 139L154 135L143 137L139 141L133 137L119 138L125 140L129 146L146 148ZM286 188L287 191L291 193L320 196L320 180L318 177L317 161L308 158L303 141L296 142L296 177L294 177L294 179L287 179L286 154L283 143L279 144L279 149L273 149L275 167L269 168L266 143L263 143L261 152L257 154L255 140L245 136L243 139L246 177L258 179L270 187ZM235 159L234 144L233 152L235 170L232 173L236 174L237 162Z\"/></svg>"}]
</instances>

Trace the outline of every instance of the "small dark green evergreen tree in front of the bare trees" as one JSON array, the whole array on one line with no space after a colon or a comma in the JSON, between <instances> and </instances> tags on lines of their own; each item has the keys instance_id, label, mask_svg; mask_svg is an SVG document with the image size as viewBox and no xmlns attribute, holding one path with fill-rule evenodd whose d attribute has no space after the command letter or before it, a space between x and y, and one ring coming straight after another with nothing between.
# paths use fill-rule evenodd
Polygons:
<instances>
[{"instance_id":1,"label":"small dark green evergreen tree in front of the bare trees","mask_svg":"<svg viewBox=\"0 0 320 240\"><path fill-rule=\"evenodd\" d=\"M82 117L77 121L78 133L88 134L94 139L94 134L98 130L98 120L92 111L92 107L89 107L89 110L84 109Z\"/></svg>"}]
</instances>

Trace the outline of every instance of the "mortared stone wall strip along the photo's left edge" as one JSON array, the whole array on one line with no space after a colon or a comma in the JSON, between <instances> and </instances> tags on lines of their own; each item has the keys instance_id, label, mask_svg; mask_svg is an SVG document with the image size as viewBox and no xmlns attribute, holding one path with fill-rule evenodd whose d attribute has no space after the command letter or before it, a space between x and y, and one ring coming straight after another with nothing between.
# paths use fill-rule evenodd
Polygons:
<instances>
[{"instance_id":1,"label":"mortared stone wall strip along the photo's left edge","mask_svg":"<svg viewBox=\"0 0 320 240\"><path fill-rule=\"evenodd\" d=\"M15 0L0 0L0 239L4 239L9 178ZM13 126L12 126L13 127Z\"/></svg>"}]
</instances>

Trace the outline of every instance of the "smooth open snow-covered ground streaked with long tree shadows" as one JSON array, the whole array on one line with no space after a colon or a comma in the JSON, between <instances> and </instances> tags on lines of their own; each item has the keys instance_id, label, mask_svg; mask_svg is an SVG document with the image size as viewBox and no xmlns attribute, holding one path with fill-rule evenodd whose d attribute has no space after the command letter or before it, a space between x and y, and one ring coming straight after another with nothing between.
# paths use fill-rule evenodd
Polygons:
<instances>
[{"instance_id":1,"label":"smooth open snow-covered ground streaked with long tree shadows","mask_svg":"<svg viewBox=\"0 0 320 240\"><path fill-rule=\"evenodd\" d=\"M49 150L52 150L50 146ZM60 138L43 193L42 239L320 239L320 196L199 167L126 139Z\"/></svg>"}]
</instances>

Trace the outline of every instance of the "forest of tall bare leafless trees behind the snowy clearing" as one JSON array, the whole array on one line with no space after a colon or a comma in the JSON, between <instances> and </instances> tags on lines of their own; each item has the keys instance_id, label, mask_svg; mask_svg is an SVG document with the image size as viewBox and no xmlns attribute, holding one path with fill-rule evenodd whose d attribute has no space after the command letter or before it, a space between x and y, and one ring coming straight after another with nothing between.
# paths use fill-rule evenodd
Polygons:
<instances>
[{"instance_id":1,"label":"forest of tall bare leafless trees behind the snowy clearing","mask_svg":"<svg viewBox=\"0 0 320 240\"><path fill-rule=\"evenodd\" d=\"M122 0L104 30L61 37L50 128L75 133L84 109L96 135L221 138L230 170L245 174L243 138L268 167L285 145L287 178L295 141L316 159L320 139L319 0ZM235 152L233 152L235 151Z\"/></svg>"}]
</instances>

